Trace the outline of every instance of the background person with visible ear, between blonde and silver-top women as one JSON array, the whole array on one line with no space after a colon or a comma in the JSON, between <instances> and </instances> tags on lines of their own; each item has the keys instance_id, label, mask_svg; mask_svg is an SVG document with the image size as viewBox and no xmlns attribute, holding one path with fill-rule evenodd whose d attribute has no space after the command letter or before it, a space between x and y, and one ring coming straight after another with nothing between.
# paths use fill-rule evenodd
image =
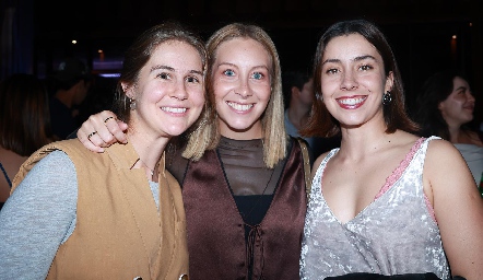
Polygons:
<instances>
[{"instance_id":1,"label":"background person with visible ear, between blonde and silver-top women","mask_svg":"<svg viewBox=\"0 0 483 280\"><path fill-rule=\"evenodd\" d=\"M314 104L314 79L309 71L287 70L282 73L282 90L285 105L285 130L290 136L301 137L298 130L307 122ZM310 148L310 156L317 159L321 153L340 145L340 137L302 137Z\"/></svg>"}]
</instances>

